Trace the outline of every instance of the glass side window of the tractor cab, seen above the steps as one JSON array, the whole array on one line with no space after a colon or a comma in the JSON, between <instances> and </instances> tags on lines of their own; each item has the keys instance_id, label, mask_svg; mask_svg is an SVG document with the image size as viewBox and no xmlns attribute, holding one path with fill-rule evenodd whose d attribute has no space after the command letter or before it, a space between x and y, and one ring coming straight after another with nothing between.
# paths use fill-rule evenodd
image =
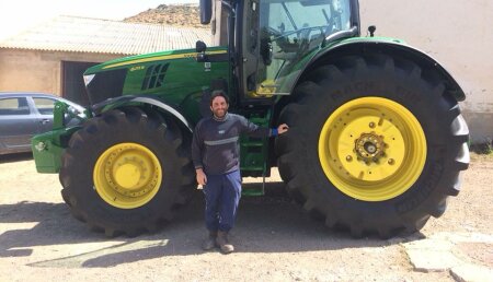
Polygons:
<instances>
[{"instance_id":1,"label":"glass side window of the tractor cab, seen above the steps","mask_svg":"<svg viewBox=\"0 0 493 282\"><path fill-rule=\"evenodd\" d=\"M351 28L347 0L261 0L256 94L288 94L297 62L318 50L333 33Z\"/></svg>"}]
</instances>

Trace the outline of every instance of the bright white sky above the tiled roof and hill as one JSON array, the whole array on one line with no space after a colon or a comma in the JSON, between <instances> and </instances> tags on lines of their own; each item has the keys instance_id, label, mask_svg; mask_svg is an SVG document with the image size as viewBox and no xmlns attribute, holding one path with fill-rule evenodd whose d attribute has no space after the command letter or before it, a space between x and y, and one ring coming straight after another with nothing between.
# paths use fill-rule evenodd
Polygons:
<instances>
[{"instance_id":1,"label":"bright white sky above the tiled roof and hill","mask_svg":"<svg viewBox=\"0 0 493 282\"><path fill-rule=\"evenodd\" d=\"M198 0L1 0L0 39L61 14L123 20L173 3L198 3Z\"/></svg>"}]
</instances>

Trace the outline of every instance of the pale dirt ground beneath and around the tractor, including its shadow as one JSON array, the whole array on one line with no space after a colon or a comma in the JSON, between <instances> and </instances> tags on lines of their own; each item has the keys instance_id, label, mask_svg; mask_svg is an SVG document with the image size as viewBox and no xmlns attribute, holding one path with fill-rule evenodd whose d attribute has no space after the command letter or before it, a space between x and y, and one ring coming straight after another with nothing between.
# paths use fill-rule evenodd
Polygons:
<instances>
[{"instance_id":1,"label":"pale dirt ground beneath and around the tractor, including its shadow","mask_svg":"<svg viewBox=\"0 0 493 282\"><path fill-rule=\"evenodd\" d=\"M30 154L0 156L0 281L454 281L451 271L413 267L404 244L443 234L493 235L493 157L473 155L462 191L421 233L353 239L311 220L283 191L242 199L237 251L203 252L200 193L171 224L136 238L106 238L74 220L57 175L35 172ZM261 185L261 179L245 179ZM493 245L455 243L462 261L493 269Z\"/></svg>"}]
</instances>

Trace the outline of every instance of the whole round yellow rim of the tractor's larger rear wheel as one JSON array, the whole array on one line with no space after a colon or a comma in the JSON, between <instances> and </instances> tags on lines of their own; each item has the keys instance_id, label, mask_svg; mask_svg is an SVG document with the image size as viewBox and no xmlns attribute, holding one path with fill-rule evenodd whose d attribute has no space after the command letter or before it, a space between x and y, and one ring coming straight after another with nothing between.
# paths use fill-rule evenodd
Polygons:
<instances>
[{"instance_id":1,"label":"whole round yellow rim of the tractor's larger rear wheel","mask_svg":"<svg viewBox=\"0 0 493 282\"><path fill-rule=\"evenodd\" d=\"M319 158L329 180L343 193L385 201L405 192L426 162L423 129L402 105L364 97L337 108L319 139Z\"/></svg>"}]
</instances>

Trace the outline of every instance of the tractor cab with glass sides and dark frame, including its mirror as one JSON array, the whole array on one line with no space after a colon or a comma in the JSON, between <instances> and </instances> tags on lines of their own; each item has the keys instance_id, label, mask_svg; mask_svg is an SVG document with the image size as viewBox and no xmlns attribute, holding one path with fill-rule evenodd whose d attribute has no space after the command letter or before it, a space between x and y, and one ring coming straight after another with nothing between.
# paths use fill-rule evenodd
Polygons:
<instances>
[{"instance_id":1,"label":"tractor cab with glass sides and dark frame, including its mirror","mask_svg":"<svg viewBox=\"0 0 493 282\"><path fill-rule=\"evenodd\" d=\"M318 50L359 34L356 0L232 0L222 7L233 64L230 81L242 105L272 104L289 95ZM203 24L210 22L211 10L211 0L200 1Z\"/></svg>"}]
</instances>

